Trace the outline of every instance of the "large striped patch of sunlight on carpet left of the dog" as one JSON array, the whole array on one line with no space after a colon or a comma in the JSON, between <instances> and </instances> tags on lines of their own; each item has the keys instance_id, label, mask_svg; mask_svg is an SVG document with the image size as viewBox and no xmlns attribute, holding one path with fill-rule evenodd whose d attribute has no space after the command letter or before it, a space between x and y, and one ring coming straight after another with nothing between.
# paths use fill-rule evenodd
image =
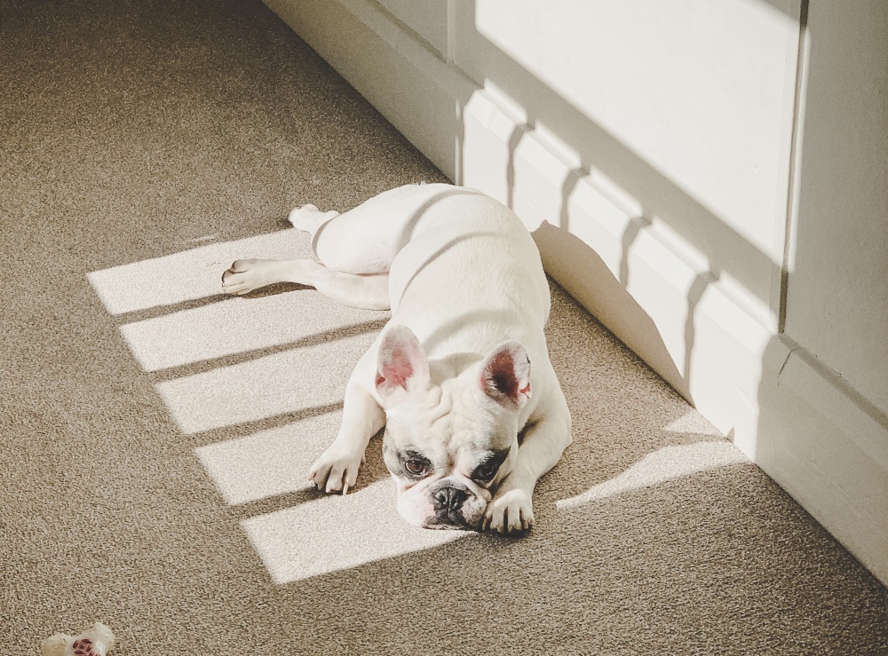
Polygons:
<instances>
[{"instance_id":1,"label":"large striped patch of sunlight on carpet left of the dog","mask_svg":"<svg viewBox=\"0 0 888 656\"><path fill-rule=\"evenodd\" d=\"M350 494L313 491L309 467L337 434L345 383L388 315L312 290L222 296L221 274L241 257L311 254L305 234L284 230L88 278L179 430L206 434L210 443L194 454L222 500L238 507L274 581L474 535L408 525L379 462L365 467ZM226 439L213 438L215 431ZM241 437L230 439L233 432Z\"/></svg>"}]
</instances>

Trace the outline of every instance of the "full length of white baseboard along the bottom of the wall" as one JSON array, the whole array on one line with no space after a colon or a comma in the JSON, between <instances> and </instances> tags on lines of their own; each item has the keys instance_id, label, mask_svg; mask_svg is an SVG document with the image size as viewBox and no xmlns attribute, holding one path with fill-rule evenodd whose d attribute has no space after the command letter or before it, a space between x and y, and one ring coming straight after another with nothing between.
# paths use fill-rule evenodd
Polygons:
<instances>
[{"instance_id":1,"label":"full length of white baseboard along the bottom of the wall","mask_svg":"<svg viewBox=\"0 0 888 656\"><path fill-rule=\"evenodd\" d=\"M266 4L449 178L515 209L551 276L888 582L888 423L761 301L374 0Z\"/></svg>"}]
</instances>

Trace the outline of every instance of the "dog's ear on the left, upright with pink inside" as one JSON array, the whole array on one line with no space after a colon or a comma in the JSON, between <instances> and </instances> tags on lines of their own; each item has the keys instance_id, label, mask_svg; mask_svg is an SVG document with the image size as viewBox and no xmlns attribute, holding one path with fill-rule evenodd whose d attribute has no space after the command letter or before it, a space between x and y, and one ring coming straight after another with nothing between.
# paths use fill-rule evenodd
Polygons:
<instances>
[{"instance_id":1,"label":"dog's ear on the left, upright with pink inside","mask_svg":"<svg viewBox=\"0 0 888 656\"><path fill-rule=\"evenodd\" d=\"M429 360L423 345L407 326L385 332L377 355L377 391L389 402L429 387Z\"/></svg>"}]
</instances>

